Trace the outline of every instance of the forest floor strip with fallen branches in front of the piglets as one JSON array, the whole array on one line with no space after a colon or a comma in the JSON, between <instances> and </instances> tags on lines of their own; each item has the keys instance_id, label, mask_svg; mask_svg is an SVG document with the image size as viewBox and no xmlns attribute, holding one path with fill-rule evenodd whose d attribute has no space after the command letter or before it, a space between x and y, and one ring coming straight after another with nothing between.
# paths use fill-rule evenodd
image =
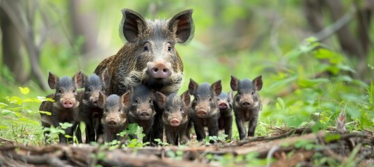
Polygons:
<instances>
[{"instance_id":1,"label":"forest floor strip with fallen branches in front of the piglets","mask_svg":"<svg viewBox=\"0 0 374 167\"><path fill-rule=\"evenodd\" d=\"M231 143L112 148L15 145L0 138L0 166L374 166L373 132L280 130ZM317 162L315 160L318 160Z\"/></svg>"}]
</instances>

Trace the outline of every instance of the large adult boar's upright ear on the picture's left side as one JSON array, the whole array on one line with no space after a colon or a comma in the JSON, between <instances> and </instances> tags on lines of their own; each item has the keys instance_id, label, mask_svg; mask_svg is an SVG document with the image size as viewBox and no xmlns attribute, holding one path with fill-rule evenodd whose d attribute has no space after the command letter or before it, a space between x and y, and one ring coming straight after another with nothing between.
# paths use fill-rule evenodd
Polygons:
<instances>
[{"instance_id":1,"label":"large adult boar's upright ear on the picture's left side","mask_svg":"<svg viewBox=\"0 0 374 167\"><path fill-rule=\"evenodd\" d=\"M121 38L125 38L128 42L136 42L139 40L139 33L146 29L146 22L133 10L124 8L121 12L123 14L119 28Z\"/></svg>"}]
</instances>

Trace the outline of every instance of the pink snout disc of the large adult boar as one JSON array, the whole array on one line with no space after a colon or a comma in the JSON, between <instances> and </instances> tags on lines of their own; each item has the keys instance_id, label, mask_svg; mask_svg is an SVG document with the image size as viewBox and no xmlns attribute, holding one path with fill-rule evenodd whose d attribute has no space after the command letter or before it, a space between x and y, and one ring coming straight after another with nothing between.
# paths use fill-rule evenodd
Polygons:
<instances>
[{"instance_id":1,"label":"pink snout disc of the large adult boar","mask_svg":"<svg viewBox=\"0 0 374 167\"><path fill-rule=\"evenodd\" d=\"M166 79L171 75L170 65L165 63L148 63L150 76L155 79Z\"/></svg>"}]
</instances>

